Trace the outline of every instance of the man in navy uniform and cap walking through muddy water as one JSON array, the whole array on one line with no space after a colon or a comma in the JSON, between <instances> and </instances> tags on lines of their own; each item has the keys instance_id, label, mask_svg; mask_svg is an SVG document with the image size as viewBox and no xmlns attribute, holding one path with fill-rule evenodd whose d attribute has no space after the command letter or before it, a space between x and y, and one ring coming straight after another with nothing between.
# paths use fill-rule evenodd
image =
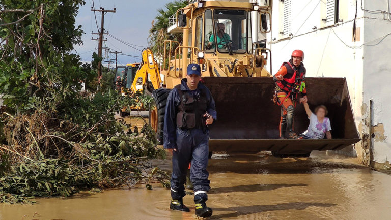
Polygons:
<instances>
[{"instance_id":1,"label":"man in navy uniform and cap walking through muddy water","mask_svg":"<svg viewBox=\"0 0 391 220\"><path fill-rule=\"evenodd\" d=\"M187 77L169 93L164 115L164 148L173 155L170 208L190 211L182 198L186 195L184 183L191 162L190 180L194 185L195 214L212 215L208 200L209 173L206 170L209 154L208 125L216 120L216 107L209 89L200 83L198 64L187 67Z\"/></svg>"}]
</instances>

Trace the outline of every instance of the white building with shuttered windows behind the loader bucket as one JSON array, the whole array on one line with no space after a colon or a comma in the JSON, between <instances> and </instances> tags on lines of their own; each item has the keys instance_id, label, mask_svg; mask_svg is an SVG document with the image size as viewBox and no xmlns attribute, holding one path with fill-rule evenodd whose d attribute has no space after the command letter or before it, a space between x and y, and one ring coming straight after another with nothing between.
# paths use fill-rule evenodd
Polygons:
<instances>
[{"instance_id":1,"label":"white building with shuttered windows behind the loader bucket","mask_svg":"<svg viewBox=\"0 0 391 220\"><path fill-rule=\"evenodd\" d=\"M272 70L270 66L267 68L273 74L290 59L293 50L301 49L305 53L307 77L347 79L362 141L355 149L346 150L356 152L362 163L380 169L391 167L389 2L274 0L272 31L266 35L258 33L258 39L254 39L267 39L267 47L272 51ZM258 3L262 5L265 0Z\"/></svg>"}]
</instances>

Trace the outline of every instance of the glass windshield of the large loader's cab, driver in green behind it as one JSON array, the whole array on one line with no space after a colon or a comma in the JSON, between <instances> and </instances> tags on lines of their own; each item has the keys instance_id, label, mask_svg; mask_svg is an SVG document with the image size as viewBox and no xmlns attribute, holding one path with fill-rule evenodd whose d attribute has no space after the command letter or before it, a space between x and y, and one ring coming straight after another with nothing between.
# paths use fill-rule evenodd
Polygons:
<instances>
[{"instance_id":1,"label":"glass windshield of the large loader's cab, driver in green behind it","mask_svg":"<svg viewBox=\"0 0 391 220\"><path fill-rule=\"evenodd\" d=\"M205 36L205 50L217 48L221 53L245 53L248 31L247 12L244 10L214 10L213 15L214 33L209 39Z\"/></svg>"}]
</instances>

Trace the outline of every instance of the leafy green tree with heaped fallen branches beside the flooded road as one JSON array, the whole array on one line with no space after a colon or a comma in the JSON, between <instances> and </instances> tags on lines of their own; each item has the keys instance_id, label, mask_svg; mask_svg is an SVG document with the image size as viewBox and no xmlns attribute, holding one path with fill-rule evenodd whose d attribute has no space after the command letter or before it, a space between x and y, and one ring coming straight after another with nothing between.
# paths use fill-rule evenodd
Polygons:
<instances>
[{"instance_id":1,"label":"leafy green tree with heaped fallen branches beside the flooded road","mask_svg":"<svg viewBox=\"0 0 391 220\"><path fill-rule=\"evenodd\" d=\"M163 156L154 132L147 124L131 128L115 119L123 106L143 105L148 98L121 97L107 68L98 86L100 58L93 54L91 64L82 64L71 53L82 43L75 16L83 4L0 2L0 24L5 24L0 26L0 94L7 106L0 115L0 139L7 142L0 148L0 202L70 196L85 187L131 186L151 178L164 183L164 172L142 172L152 170L144 160ZM95 93L80 92L82 81Z\"/></svg>"}]
</instances>

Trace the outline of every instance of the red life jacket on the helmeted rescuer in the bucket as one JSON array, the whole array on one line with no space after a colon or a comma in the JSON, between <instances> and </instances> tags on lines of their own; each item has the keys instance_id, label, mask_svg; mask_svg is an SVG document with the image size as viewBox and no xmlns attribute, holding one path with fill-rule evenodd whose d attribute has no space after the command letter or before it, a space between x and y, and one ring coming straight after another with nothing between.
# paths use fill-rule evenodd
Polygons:
<instances>
[{"instance_id":1,"label":"red life jacket on the helmeted rescuer in the bucket","mask_svg":"<svg viewBox=\"0 0 391 220\"><path fill-rule=\"evenodd\" d=\"M280 87L282 90L287 91L289 93L297 93L299 90L297 88L300 88L301 82L305 79L305 69L300 68L299 70L296 70L293 68L292 64L290 62L284 62L281 67L283 67L285 64L288 64L290 69L293 71L291 78L285 78L281 81L276 81L278 87ZM289 73L290 71L287 70Z\"/></svg>"}]
</instances>

